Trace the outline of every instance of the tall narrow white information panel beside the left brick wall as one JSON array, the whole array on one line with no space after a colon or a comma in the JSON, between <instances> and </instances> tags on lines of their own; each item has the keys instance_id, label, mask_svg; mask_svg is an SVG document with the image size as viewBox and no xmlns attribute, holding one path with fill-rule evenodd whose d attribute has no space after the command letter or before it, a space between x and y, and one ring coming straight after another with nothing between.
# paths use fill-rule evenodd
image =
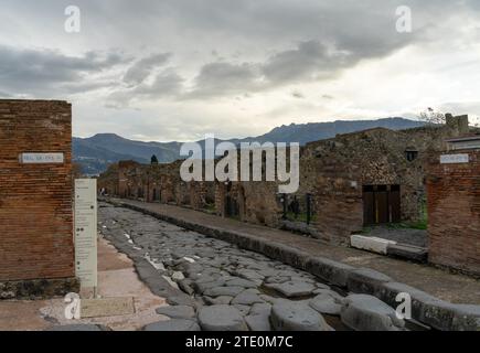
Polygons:
<instances>
[{"instance_id":1,"label":"tall narrow white information panel beside the left brick wall","mask_svg":"<svg viewBox=\"0 0 480 353\"><path fill-rule=\"evenodd\" d=\"M82 288L97 287L97 180L75 180L75 270Z\"/></svg>"}]
</instances>

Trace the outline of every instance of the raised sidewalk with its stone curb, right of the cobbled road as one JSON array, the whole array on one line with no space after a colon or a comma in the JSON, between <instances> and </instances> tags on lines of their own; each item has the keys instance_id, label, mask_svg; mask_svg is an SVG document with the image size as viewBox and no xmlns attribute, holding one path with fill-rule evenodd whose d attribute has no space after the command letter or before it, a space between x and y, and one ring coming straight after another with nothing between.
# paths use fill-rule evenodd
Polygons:
<instances>
[{"instance_id":1,"label":"raised sidewalk with its stone curb, right of the cobbled road","mask_svg":"<svg viewBox=\"0 0 480 353\"><path fill-rule=\"evenodd\" d=\"M473 306L480 304L480 281L473 278L172 205L109 201L262 253L350 292L373 295L392 307L398 304L398 292L408 292L414 319L429 327L480 329L480 307Z\"/></svg>"}]
</instances>

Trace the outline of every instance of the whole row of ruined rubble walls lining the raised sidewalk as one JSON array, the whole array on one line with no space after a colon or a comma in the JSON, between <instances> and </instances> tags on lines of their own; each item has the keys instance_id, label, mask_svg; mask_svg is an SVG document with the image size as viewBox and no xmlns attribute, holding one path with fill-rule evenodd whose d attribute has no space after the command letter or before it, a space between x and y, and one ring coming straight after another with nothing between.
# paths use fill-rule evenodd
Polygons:
<instances>
[{"instance_id":1,"label":"whole row of ruined rubble walls lining the raised sidewalk","mask_svg":"<svg viewBox=\"0 0 480 353\"><path fill-rule=\"evenodd\" d=\"M312 195L312 233L329 243L349 244L350 235L362 231L363 185L399 185L401 218L415 222L425 202L424 164L430 153L445 148L447 138L465 132L465 120L449 116L446 126L372 129L308 143L300 153L299 191L289 197L297 196L305 208L306 195ZM416 158L407 160L406 151L414 151ZM130 163L125 169L120 164L120 184L130 185L135 192L128 196L134 199L146 200L145 189L151 190L153 182L161 190L162 203L205 210L210 205L205 200L211 200L214 207L210 211L218 216L271 227L285 224L277 182L185 183L180 179L180 164ZM108 179L108 173L100 179ZM120 195L127 186L119 188Z\"/></svg>"}]
</instances>

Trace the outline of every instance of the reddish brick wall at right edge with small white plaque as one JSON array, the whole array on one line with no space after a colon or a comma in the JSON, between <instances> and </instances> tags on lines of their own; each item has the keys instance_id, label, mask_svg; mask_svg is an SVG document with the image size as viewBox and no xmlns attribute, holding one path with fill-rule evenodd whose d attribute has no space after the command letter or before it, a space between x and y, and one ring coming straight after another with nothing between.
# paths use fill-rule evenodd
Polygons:
<instances>
[{"instance_id":1,"label":"reddish brick wall at right edge with small white plaque","mask_svg":"<svg viewBox=\"0 0 480 353\"><path fill-rule=\"evenodd\" d=\"M470 162L428 168L429 261L480 275L480 151L455 153Z\"/></svg>"}]
</instances>

